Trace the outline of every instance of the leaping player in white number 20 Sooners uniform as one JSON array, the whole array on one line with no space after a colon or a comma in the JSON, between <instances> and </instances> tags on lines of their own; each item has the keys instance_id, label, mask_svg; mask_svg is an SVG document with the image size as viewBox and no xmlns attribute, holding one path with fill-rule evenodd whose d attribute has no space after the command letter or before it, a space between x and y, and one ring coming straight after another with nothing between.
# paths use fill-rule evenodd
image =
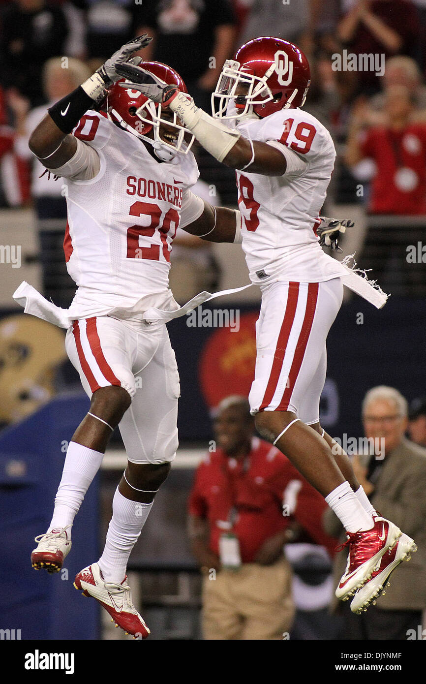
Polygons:
<instances>
[{"instance_id":1,"label":"leaping player in white number 20 Sooners uniform","mask_svg":"<svg viewBox=\"0 0 426 684\"><path fill-rule=\"evenodd\" d=\"M178 309L168 289L178 226L232 242L239 241L241 224L239 211L215 209L189 190L198 179L194 136L176 115L116 82L116 64L148 40L141 36L122 47L50 107L32 133L34 155L64 179L64 252L78 289L68 310L25 282L14 293L25 311L68 327L66 350L91 397L68 446L51 524L36 538L31 562L50 572L62 567L72 521L120 425L128 464L114 495L105 549L78 573L75 586L99 601L119 627L142 638L149 630L133 606L126 566L175 456L180 393L165 323L146 322L144 312ZM168 66L142 64L164 84L186 91ZM100 99L105 111L96 111Z\"/></svg>"}]
</instances>

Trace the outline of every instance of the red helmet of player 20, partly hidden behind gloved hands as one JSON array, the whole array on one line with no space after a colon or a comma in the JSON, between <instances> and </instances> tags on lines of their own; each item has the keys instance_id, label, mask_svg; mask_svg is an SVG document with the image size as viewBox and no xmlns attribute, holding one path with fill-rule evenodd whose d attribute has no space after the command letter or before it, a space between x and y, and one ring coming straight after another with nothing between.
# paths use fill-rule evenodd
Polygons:
<instances>
[{"instance_id":1,"label":"red helmet of player 20, partly hidden behind gloved hands","mask_svg":"<svg viewBox=\"0 0 426 684\"><path fill-rule=\"evenodd\" d=\"M188 92L183 79L170 66L161 62L140 62L139 66L164 81L164 85L176 85L181 92ZM162 161L169 161L178 153L186 155L194 142L191 131L178 124L176 114L170 112L170 118L165 118L161 105L149 100L139 90L132 90L130 83L129 88L119 85L125 82L125 79L116 81L107 92L103 106L111 119L124 130L151 144ZM168 140L159 135L161 124L165 126L163 136ZM152 130L154 137L148 137L147 134Z\"/></svg>"}]
</instances>

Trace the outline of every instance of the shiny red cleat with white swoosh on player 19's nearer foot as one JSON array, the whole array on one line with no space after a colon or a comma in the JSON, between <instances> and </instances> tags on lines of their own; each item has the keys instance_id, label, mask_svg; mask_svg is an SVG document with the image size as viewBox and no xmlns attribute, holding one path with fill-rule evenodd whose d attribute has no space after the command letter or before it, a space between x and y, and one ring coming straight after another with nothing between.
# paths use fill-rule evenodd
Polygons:
<instances>
[{"instance_id":1,"label":"shiny red cleat with white swoosh on player 19's nearer foot","mask_svg":"<svg viewBox=\"0 0 426 684\"><path fill-rule=\"evenodd\" d=\"M347 533L349 555L345 573L336 588L336 596L341 601L347 601L350 596L360 589L380 566L382 556L392 549L402 532L386 518L374 517L374 525L367 531Z\"/></svg>"}]
</instances>

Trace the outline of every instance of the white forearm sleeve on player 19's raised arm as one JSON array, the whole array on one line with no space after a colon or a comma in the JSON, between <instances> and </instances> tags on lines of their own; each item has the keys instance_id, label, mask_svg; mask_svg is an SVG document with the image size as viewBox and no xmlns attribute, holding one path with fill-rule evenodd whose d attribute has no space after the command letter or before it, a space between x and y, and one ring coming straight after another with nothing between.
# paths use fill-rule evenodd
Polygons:
<instances>
[{"instance_id":1,"label":"white forearm sleeve on player 19's raised arm","mask_svg":"<svg viewBox=\"0 0 426 684\"><path fill-rule=\"evenodd\" d=\"M241 133L232 131L194 105L194 101L180 92L170 103L183 124L194 133L196 139L217 161L224 161Z\"/></svg>"}]
</instances>

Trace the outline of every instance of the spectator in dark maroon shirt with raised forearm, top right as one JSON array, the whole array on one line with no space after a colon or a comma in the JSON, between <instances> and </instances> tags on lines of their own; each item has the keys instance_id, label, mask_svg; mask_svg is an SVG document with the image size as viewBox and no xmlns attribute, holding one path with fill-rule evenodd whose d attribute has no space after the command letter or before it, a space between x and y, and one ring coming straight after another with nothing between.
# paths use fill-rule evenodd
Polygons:
<instances>
[{"instance_id":1,"label":"spectator in dark maroon shirt with raised forearm, top right","mask_svg":"<svg viewBox=\"0 0 426 684\"><path fill-rule=\"evenodd\" d=\"M338 37L350 53L418 56L418 13L410 0L357 0L338 24ZM380 88L375 70L358 71L360 90Z\"/></svg>"}]
</instances>

